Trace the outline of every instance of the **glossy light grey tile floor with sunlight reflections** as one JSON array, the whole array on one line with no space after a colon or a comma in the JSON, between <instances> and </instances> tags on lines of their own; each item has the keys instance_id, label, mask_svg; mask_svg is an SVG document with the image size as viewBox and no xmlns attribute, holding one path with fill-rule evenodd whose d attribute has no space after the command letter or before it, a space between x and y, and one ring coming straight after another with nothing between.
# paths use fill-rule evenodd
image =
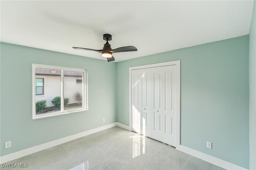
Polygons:
<instances>
[{"instance_id":1,"label":"glossy light grey tile floor with sunlight reflections","mask_svg":"<svg viewBox=\"0 0 256 170\"><path fill-rule=\"evenodd\" d=\"M222 170L162 142L120 127L109 128L7 163L1 170Z\"/></svg>"}]
</instances>

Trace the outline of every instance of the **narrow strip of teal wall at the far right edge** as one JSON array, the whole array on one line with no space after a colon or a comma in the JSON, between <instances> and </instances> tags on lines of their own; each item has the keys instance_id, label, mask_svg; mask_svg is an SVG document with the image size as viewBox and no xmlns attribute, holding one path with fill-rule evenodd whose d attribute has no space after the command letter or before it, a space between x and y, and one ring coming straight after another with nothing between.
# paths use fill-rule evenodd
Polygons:
<instances>
[{"instance_id":1,"label":"narrow strip of teal wall at the far right edge","mask_svg":"<svg viewBox=\"0 0 256 170\"><path fill-rule=\"evenodd\" d=\"M256 1L249 36L249 138L250 169L256 170Z\"/></svg>"}]
</instances>

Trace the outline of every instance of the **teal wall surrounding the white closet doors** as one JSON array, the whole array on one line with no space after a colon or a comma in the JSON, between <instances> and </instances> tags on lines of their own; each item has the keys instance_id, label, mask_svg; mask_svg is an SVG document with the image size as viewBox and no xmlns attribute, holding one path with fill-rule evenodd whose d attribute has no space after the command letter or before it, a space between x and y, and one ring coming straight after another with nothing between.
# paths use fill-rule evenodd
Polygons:
<instances>
[{"instance_id":1,"label":"teal wall surrounding the white closet doors","mask_svg":"<svg viewBox=\"0 0 256 170\"><path fill-rule=\"evenodd\" d=\"M129 67L180 60L181 144L248 168L248 38L118 62L118 122L129 125Z\"/></svg>"}]
</instances>

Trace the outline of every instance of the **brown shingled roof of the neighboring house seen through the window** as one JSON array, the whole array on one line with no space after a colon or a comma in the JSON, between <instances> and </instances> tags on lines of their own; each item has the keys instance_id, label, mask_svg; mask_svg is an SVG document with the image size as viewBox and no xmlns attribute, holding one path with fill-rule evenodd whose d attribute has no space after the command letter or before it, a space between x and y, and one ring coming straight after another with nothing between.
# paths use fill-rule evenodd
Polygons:
<instances>
[{"instance_id":1,"label":"brown shingled roof of the neighboring house seen through the window","mask_svg":"<svg viewBox=\"0 0 256 170\"><path fill-rule=\"evenodd\" d=\"M36 75L60 75L60 70L36 68ZM76 71L64 71L64 76L82 77L83 73Z\"/></svg>"}]
</instances>

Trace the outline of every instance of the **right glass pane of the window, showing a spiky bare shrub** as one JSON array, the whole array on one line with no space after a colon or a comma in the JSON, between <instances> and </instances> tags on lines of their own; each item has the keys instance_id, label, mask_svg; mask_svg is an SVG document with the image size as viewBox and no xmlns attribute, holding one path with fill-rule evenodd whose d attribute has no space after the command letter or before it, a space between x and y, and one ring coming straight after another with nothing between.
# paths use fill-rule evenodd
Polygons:
<instances>
[{"instance_id":1,"label":"right glass pane of the window, showing a spiky bare shrub","mask_svg":"<svg viewBox=\"0 0 256 170\"><path fill-rule=\"evenodd\" d=\"M83 72L64 71L64 110L83 107Z\"/></svg>"}]
</instances>

